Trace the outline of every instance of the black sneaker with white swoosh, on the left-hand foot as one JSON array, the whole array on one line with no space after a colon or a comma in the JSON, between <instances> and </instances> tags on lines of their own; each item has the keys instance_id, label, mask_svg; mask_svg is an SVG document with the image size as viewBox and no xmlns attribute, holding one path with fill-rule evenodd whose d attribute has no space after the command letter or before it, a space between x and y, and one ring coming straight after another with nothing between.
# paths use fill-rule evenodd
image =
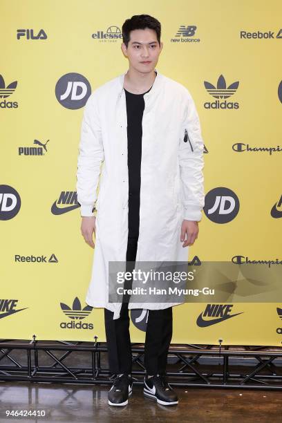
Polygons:
<instances>
[{"instance_id":1,"label":"black sneaker with white swoosh, on the left-hand foot","mask_svg":"<svg viewBox=\"0 0 282 423\"><path fill-rule=\"evenodd\" d=\"M113 386L108 393L109 405L123 406L129 402L132 394L132 378L126 373L121 373L115 377Z\"/></svg>"}]
</instances>

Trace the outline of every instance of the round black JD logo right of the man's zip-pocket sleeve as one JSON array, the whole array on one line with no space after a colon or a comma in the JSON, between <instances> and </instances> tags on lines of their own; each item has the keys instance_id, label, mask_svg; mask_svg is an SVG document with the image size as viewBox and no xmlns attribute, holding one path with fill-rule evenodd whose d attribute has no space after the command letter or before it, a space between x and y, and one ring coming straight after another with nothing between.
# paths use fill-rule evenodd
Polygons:
<instances>
[{"instance_id":1,"label":"round black JD logo right of the man's zip-pocket sleeve","mask_svg":"<svg viewBox=\"0 0 282 423\"><path fill-rule=\"evenodd\" d=\"M232 189L217 187L205 196L204 212L214 223L228 223L239 211L239 199Z\"/></svg>"}]
</instances>

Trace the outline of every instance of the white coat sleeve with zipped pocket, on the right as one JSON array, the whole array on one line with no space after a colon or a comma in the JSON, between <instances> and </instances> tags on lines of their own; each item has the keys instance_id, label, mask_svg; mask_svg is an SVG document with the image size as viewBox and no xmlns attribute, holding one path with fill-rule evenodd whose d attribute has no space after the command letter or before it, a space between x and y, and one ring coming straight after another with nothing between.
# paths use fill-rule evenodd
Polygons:
<instances>
[{"instance_id":1,"label":"white coat sleeve with zipped pocket, on the right","mask_svg":"<svg viewBox=\"0 0 282 423\"><path fill-rule=\"evenodd\" d=\"M179 140L179 166L184 206L184 218L200 221L205 205L203 159L204 143L201 135L200 120L194 100L186 91L182 131Z\"/></svg>"}]
</instances>

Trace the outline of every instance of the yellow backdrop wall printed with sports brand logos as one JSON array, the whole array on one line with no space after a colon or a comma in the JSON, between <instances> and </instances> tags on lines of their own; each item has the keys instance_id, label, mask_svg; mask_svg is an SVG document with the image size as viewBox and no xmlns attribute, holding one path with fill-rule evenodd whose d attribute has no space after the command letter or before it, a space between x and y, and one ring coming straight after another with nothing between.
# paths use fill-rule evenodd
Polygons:
<instances>
[{"instance_id":1,"label":"yellow backdrop wall printed with sports brand logos","mask_svg":"<svg viewBox=\"0 0 282 423\"><path fill-rule=\"evenodd\" d=\"M160 20L158 69L194 97L205 192L227 188L239 202L225 223L204 214L189 259L281 261L281 1L2 0L0 7L2 339L105 340L104 310L84 310L93 250L75 207L86 97L57 98L68 77L90 95L126 71L119 34L132 15ZM210 195L217 192L226 194ZM241 314L207 327L196 323L207 304L177 306L172 341L280 345L281 300L234 303L230 314ZM144 341L132 323L131 335Z\"/></svg>"}]
</instances>

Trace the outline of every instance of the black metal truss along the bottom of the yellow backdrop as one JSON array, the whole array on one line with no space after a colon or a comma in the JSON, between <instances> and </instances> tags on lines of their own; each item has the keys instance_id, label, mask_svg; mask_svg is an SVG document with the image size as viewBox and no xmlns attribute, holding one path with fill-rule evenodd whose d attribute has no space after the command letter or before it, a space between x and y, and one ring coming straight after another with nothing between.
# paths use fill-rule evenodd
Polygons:
<instances>
[{"instance_id":1,"label":"black metal truss along the bottom of the yellow backdrop","mask_svg":"<svg viewBox=\"0 0 282 423\"><path fill-rule=\"evenodd\" d=\"M0 381L111 384L105 353L106 343L97 337L92 343L37 341L35 335L32 341L0 339ZM80 361L77 354L85 366L68 364ZM280 347L171 344L169 357L175 364L168 364L167 377L174 386L282 389ZM134 384L143 383L143 358L144 345L132 344Z\"/></svg>"}]
</instances>

